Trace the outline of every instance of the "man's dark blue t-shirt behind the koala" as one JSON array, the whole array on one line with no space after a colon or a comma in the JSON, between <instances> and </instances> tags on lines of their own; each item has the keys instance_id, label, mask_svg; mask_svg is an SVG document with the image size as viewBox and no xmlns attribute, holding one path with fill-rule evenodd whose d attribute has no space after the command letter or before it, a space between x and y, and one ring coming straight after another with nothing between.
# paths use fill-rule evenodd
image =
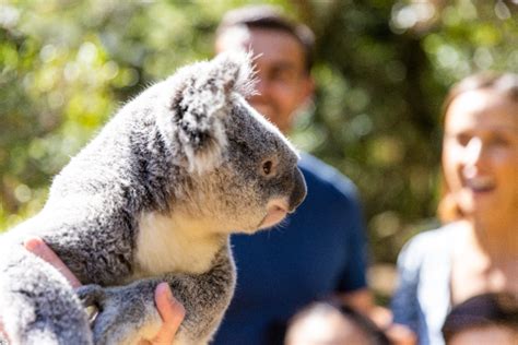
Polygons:
<instances>
[{"instance_id":1,"label":"man's dark blue t-shirt behind the koala","mask_svg":"<svg viewBox=\"0 0 518 345\"><path fill-rule=\"evenodd\" d=\"M354 185L304 154L306 200L281 225L234 235L237 286L216 345L282 344L307 304L366 287L364 223Z\"/></svg>"}]
</instances>

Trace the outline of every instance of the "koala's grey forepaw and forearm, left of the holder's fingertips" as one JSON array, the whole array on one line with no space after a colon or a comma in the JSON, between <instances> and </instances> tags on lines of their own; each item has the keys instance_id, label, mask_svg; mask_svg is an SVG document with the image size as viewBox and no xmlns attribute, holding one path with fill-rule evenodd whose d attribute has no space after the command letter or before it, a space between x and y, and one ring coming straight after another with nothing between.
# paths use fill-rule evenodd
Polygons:
<instances>
[{"instance_id":1,"label":"koala's grey forepaw and forearm, left of the holder's fingertips","mask_svg":"<svg viewBox=\"0 0 518 345\"><path fill-rule=\"evenodd\" d=\"M95 344L137 344L142 337L151 338L158 332L161 318L152 288L87 285L78 289L78 294L85 306L98 308L93 322Z\"/></svg>"}]
</instances>

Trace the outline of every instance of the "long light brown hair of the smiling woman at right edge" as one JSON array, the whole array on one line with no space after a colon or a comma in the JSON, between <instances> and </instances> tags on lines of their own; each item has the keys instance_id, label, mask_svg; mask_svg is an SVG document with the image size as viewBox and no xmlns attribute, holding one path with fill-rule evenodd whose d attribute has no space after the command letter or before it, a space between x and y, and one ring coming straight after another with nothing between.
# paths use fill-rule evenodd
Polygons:
<instances>
[{"instance_id":1,"label":"long light brown hair of the smiling woman at right edge","mask_svg":"<svg viewBox=\"0 0 518 345\"><path fill-rule=\"evenodd\" d=\"M518 103L518 73L495 73L484 72L470 75L450 88L443 103L442 122L445 127L446 112L449 106L459 95L476 90L492 90L502 96L508 97ZM455 201L454 195L446 182L444 168L440 171L440 201L437 207L437 215L442 222L448 223L463 217L462 210Z\"/></svg>"}]
</instances>

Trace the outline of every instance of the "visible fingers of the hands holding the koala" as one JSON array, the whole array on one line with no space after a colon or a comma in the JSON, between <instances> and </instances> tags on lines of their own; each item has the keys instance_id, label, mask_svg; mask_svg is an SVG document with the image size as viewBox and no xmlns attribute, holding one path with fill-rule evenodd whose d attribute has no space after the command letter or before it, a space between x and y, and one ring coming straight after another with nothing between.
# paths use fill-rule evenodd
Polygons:
<instances>
[{"instance_id":1,"label":"visible fingers of the hands holding the koala","mask_svg":"<svg viewBox=\"0 0 518 345\"><path fill-rule=\"evenodd\" d=\"M40 238L28 238L24 242L25 249L34 253L35 255L44 259L51 265L54 265L70 283L72 287L81 286L81 282L74 276L74 274L64 265L64 263L56 255L56 253L45 245ZM173 296L169 285L162 283L156 286L155 290L155 304L156 309L162 318L163 325L158 333L152 340L142 338L139 345L160 345L160 344L173 344L175 334L178 331L181 321L185 317L185 308L178 302ZM1 321L1 320L0 320ZM7 341L9 344L9 334L4 334L0 322L0 344Z\"/></svg>"}]
</instances>

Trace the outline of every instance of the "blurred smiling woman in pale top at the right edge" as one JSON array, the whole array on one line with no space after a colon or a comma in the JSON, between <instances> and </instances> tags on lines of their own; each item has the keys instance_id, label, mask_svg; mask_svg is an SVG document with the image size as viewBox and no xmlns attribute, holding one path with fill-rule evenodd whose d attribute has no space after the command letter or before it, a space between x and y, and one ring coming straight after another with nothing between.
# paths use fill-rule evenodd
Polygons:
<instances>
[{"instance_id":1,"label":"blurred smiling woman in pale top at the right edge","mask_svg":"<svg viewBox=\"0 0 518 345\"><path fill-rule=\"evenodd\" d=\"M395 322L443 344L448 310L491 292L518 293L518 74L476 74L444 104L444 226L398 259Z\"/></svg>"}]
</instances>

